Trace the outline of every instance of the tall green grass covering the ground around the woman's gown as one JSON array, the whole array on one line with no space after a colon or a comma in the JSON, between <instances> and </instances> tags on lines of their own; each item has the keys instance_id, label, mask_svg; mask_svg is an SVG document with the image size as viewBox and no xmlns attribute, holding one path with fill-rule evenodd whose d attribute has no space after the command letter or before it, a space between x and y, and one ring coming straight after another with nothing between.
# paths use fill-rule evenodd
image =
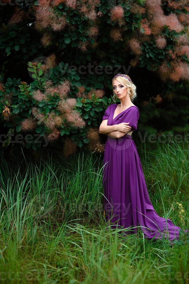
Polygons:
<instances>
[{"instance_id":1,"label":"tall green grass covering the ground around the woman's gown","mask_svg":"<svg viewBox=\"0 0 189 284\"><path fill-rule=\"evenodd\" d=\"M188 144L137 148L155 210L189 228ZM170 246L105 223L102 159L9 165L1 154L1 283L189 283L186 238Z\"/></svg>"}]
</instances>

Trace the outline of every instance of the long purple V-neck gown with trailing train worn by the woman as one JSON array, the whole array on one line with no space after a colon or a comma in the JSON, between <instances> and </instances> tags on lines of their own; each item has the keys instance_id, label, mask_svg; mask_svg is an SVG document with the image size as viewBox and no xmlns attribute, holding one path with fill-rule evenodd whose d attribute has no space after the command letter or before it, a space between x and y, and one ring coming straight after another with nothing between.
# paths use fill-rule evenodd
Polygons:
<instances>
[{"instance_id":1,"label":"long purple V-neck gown with trailing train worn by the woman","mask_svg":"<svg viewBox=\"0 0 189 284\"><path fill-rule=\"evenodd\" d=\"M111 104L103 115L108 125L129 122L137 130L139 110L131 106L114 119L118 104ZM148 239L179 239L180 227L170 219L158 216L149 199L140 158L129 134L117 139L107 136L103 159L104 211L111 227L127 228L126 235L137 233L137 227Z\"/></svg>"}]
</instances>

